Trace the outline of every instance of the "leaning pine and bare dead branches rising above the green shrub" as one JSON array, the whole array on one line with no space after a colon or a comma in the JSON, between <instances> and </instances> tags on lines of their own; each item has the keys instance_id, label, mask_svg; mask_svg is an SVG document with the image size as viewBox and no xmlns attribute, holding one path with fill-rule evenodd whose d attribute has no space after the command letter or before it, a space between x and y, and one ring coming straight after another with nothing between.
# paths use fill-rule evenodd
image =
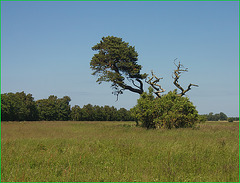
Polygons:
<instances>
[{"instance_id":1,"label":"leaning pine and bare dead branches rising above the green shrub","mask_svg":"<svg viewBox=\"0 0 240 183\"><path fill-rule=\"evenodd\" d=\"M92 75L98 76L97 82L101 84L103 81L111 82L113 94L123 94L124 90L129 90L134 93L142 94L144 92L143 83L148 83L155 91L154 93L158 98L161 93L165 91L159 84L163 78L157 77L153 71L152 76L147 77L146 73L140 73L142 66L137 63L138 53L135 47L130 46L129 43L124 42L122 38L108 36L103 37L100 43L92 47L98 53L94 54L90 62L90 67L94 71ZM179 62L176 64L177 69L174 70L174 85L181 90L179 96L183 96L188 92L192 86L189 84L187 89L183 89L178 83L181 73L187 72L188 69L184 68Z\"/></svg>"}]
</instances>

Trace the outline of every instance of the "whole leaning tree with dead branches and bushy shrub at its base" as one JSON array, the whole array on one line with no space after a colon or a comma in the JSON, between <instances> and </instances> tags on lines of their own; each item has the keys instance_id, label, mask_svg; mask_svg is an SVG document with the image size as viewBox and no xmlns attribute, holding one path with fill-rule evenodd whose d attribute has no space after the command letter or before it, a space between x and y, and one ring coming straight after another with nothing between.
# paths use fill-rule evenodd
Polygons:
<instances>
[{"instance_id":1,"label":"whole leaning tree with dead branches and bushy shrub at its base","mask_svg":"<svg viewBox=\"0 0 240 183\"><path fill-rule=\"evenodd\" d=\"M161 77L157 77L152 71L151 77L146 73L140 73L142 66L137 64L138 53L135 47L124 42L121 38L108 36L103 37L100 43L92 47L98 51L91 60L90 66L94 71L92 74L98 76L97 82L111 82L113 94L122 94L124 90L129 90L140 94L137 105L131 109L133 116L142 122L146 128L183 128L193 127L196 121L199 121L199 115L195 106L184 96L192 86L189 84L184 89L179 84L179 78L183 72L188 69L179 62L175 63L176 69L173 75L173 84L181 91L177 90L162 95L165 89L159 84ZM143 90L143 81L149 84L149 93ZM154 98L152 95L157 96Z\"/></svg>"}]
</instances>

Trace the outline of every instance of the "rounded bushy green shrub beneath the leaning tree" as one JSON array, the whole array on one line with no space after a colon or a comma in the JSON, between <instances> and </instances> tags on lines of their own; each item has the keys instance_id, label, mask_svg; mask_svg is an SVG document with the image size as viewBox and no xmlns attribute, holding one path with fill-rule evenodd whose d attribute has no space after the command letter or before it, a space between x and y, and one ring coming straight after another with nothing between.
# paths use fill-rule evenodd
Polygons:
<instances>
[{"instance_id":1,"label":"rounded bushy green shrub beneath the leaning tree","mask_svg":"<svg viewBox=\"0 0 240 183\"><path fill-rule=\"evenodd\" d=\"M176 90L154 98L153 89L149 88L149 93L144 92L131 111L146 128L185 128L202 121L192 102L177 95Z\"/></svg>"}]
</instances>

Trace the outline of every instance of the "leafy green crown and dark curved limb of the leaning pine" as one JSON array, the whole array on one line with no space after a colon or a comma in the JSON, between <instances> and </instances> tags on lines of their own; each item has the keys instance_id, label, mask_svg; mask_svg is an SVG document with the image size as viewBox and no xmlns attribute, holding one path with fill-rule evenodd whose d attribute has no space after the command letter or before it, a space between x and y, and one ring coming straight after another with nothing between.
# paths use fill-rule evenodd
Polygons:
<instances>
[{"instance_id":1,"label":"leafy green crown and dark curved limb of the leaning pine","mask_svg":"<svg viewBox=\"0 0 240 183\"><path fill-rule=\"evenodd\" d=\"M92 74L98 76L99 84L103 81L111 82L116 95L122 94L123 90L143 93L142 80L147 74L140 74L142 66L137 64L135 47L122 38L108 36L103 37L92 49L98 51L92 57L90 67L94 71ZM126 79L132 83L128 84Z\"/></svg>"}]
</instances>

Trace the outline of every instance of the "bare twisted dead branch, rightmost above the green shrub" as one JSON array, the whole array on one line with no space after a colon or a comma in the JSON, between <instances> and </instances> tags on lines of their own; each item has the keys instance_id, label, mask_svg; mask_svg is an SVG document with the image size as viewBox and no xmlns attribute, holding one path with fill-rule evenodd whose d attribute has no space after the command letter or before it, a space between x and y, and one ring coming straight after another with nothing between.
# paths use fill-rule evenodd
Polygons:
<instances>
[{"instance_id":1,"label":"bare twisted dead branch, rightmost above the green shrub","mask_svg":"<svg viewBox=\"0 0 240 183\"><path fill-rule=\"evenodd\" d=\"M175 60L174 60L175 61ZM191 86L196 86L198 87L198 85L195 85L195 84L189 84L188 85L188 88L186 90L183 89L183 87L181 87L181 85L178 83L178 80L181 76L181 73L183 72L188 72L188 68L184 68L184 66L179 62L178 65L174 62L174 64L176 65L177 69L174 70L174 81L173 81L173 84L178 88L180 89L182 92L180 94L178 94L179 96L183 96L185 95L189 90L191 90Z\"/></svg>"}]
</instances>

